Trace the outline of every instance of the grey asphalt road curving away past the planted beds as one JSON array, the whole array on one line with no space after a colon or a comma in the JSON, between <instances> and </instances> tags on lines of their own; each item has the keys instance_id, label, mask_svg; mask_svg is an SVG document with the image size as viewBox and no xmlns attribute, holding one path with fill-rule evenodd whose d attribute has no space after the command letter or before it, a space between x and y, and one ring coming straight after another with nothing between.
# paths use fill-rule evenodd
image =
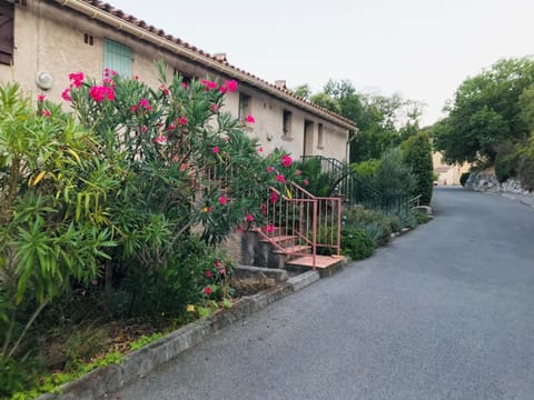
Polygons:
<instances>
[{"instance_id":1,"label":"grey asphalt road curving away past the planted beds","mask_svg":"<svg viewBox=\"0 0 534 400\"><path fill-rule=\"evenodd\" d=\"M434 199L431 223L116 396L534 399L534 209L454 188Z\"/></svg>"}]
</instances>

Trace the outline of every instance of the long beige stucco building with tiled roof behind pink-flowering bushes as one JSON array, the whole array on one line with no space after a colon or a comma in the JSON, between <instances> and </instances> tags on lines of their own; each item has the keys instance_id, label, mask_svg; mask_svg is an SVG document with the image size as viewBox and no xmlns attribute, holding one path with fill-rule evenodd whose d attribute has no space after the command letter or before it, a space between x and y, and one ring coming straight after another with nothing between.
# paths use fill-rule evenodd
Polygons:
<instances>
[{"instance_id":1,"label":"long beige stucco building with tiled roof behind pink-flowering bushes","mask_svg":"<svg viewBox=\"0 0 534 400\"><path fill-rule=\"evenodd\" d=\"M354 122L295 97L284 81L269 83L225 54L207 54L100 1L0 0L0 83L17 81L34 97L61 101L70 72L98 78L105 68L157 88L159 60L168 76L238 81L225 107L236 117L255 117L250 134L267 152L281 147L294 157L347 159Z\"/></svg>"}]
</instances>

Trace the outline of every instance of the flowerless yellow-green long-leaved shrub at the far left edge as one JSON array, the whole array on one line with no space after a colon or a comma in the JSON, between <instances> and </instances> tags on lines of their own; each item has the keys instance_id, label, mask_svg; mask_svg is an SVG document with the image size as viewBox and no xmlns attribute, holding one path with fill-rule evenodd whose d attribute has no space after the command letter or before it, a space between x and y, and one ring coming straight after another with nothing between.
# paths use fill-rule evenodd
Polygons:
<instances>
[{"instance_id":1,"label":"flowerless yellow-green long-leaved shrub at the far left edge","mask_svg":"<svg viewBox=\"0 0 534 400\"><path fill-rule=\"evenodd\" d=\"M89 284L116 244L105 199L118 181L100 150L59 107L40 99L36 112L17 86L0 88L3 368L23 364L23 339L36 318L70 284Z\"/></svg>"}]
</instances>

